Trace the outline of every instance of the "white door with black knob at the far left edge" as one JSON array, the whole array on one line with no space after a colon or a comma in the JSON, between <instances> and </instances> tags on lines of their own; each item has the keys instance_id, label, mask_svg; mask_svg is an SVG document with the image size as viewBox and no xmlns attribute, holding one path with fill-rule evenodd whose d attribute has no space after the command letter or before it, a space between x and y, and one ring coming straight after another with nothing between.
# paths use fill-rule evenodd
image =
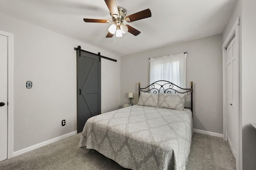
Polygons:
<instances>
[{"instance_id":1,"label":"white door with black knob at the far left edge","mask_svg":"<svg viewBox=\"0 0 256 170\"><path fill-rule=\"evenodd\" d=\"M7 159L7 43L0 35L0 161Z\"/></svg>"}]
</instances>

